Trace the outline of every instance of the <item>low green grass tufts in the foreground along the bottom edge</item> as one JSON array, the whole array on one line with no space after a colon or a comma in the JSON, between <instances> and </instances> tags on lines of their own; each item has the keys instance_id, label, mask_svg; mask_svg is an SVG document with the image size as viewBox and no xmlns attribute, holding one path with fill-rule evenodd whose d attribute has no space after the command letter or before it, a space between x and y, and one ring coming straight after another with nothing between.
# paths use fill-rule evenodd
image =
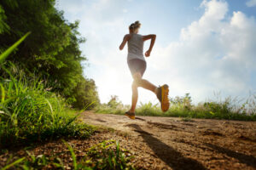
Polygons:
<instances>
[{"instance_id":1,"label":"low green grass tufts in the foreground along the bottom edge","mask_svg":"<svg viewBox=\"0 0 256 170\"><path fill-rule=\"evenodd\" d=\"M78 158L75 155L73 147L64 141L67 146L74 170L84 169L135 169L131 165L131 156L128 150L121 149L119 143L115 140L103 141L100 144L96 144L87 150L86 155L83 158ZM58 156L34 156L32 153L26 151L27 156L17 159L12 163L8 163L2 169L8 169L9 167L15 167L15 169L66 169L67 164L64 165L64 161Z\"/></svg>"}]
</instances>

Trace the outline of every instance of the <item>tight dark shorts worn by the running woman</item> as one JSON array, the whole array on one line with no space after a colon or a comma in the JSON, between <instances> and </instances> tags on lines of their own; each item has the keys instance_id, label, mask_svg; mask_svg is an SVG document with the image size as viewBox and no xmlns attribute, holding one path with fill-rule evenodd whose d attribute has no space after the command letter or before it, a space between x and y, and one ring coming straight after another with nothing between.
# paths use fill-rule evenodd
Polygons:
<instances>
[{"instance_id":1,"label":"tight dark shorts worn by the running woman","mask_svg":"<svg viewBox=\"0 0 256 170\"><path fill-rule=\"evenodd\" d=\"M142 59L131 59L128 60L128 66L131 71L131 76L133 76L134 73L140 72L143 77L143 74L147 68L147 63Z\"/></svg>"}]
</instances>

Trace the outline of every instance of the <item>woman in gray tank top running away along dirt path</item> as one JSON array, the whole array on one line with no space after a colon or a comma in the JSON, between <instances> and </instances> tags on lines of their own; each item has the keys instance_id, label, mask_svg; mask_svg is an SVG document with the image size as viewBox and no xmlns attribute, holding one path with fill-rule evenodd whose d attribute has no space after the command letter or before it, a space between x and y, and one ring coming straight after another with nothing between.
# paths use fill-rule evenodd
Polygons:
<instances>
[{"instance_id":1,"label":"woman in gray tank top running away along dirt path","mask_svg":"<svg viewBox=\"0 0 256 170\"><path fill-rule=\"evenodd\" d=\"M143 74L146 71L147 63L143 56L143 43L147 40L151 40L148 51L145 53L146 57L150 56L152 48L154 47L155 35L150 34L147 36L142 36L138 34L138 30L141 24L139 21L132 23L129 26L129 34L126 34L123 42L120 44L119 49L122 50L125 47L126 42L128 42L128 55L127 63L131 71L131 76L133 77L132 82L132 102L130 111L125 112L125 116L135 119L135 108L137 105L137 88L142 87L152 91L156 94L157 98L160 100L162 111L167 111L169 109L170 103L168 99L168 85L163 85L159 88L154 86L151 82L143 79Z\"/></svg>"}]
</instances>

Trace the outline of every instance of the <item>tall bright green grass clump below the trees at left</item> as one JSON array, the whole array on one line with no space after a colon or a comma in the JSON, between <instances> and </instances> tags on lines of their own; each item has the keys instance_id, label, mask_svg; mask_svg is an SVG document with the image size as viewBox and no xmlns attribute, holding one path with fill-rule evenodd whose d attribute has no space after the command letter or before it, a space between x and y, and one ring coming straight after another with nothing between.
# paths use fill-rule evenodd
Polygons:
<instances>
[{"instance_id":1,"label":"tall bright green grass clump below the trees at left","mask_svg":"<svg viewBox=\"0 0 256 170\"><path fill-rule=\"evenodd\" d=\"M61 137L88 138L93 127L75 122L65 100L47 91L44 81L26 77L15 66L2 67L0 78L0 147Z\"/></svg>"}]
</instances>

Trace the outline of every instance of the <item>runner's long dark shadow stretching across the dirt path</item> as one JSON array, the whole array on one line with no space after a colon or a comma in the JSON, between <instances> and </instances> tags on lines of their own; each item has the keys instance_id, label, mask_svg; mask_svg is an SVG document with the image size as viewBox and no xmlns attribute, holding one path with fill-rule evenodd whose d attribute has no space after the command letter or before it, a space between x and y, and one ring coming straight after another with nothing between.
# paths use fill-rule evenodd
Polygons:
<instances>
[{"instance_id":1,"label":"runner's long dark shadow stretching across the dirt path","mask_svg":"<svg viewBox=\"0 0 256 170\"><path fill-rule=\"evenodd\" d=\"M148 144L151 150L154 151L155 155L162 161L165 161L169 167L172 167L172 169L207 169L200 162L184 157L177 150L174 150L159 139L154 138L152 134L143 131L137 124L129 124L127 126L134 128L137 133L140 133L144 141Z\"/></svg>"}]
</instances>

